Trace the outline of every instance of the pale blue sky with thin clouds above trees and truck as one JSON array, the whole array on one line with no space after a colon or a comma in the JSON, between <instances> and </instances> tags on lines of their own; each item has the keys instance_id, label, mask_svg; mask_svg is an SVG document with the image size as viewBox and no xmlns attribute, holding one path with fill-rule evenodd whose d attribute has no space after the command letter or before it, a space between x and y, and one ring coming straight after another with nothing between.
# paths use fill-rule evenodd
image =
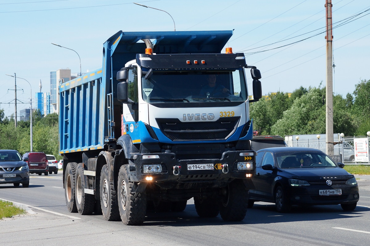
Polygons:
<instances>
[{"instance_id":1,"label":"pale blue sky with thin clouds above trees and truck","mask_svg":"<svg viewBox=\"0 0 370 246\"><path fill-rule=\"evenodd\" d=\"M321 33L326 25L325 0L137 2L167 11L174 18L176 31L234 29L228 43L234 52L276 48ZM367 0L332 0L332 3L333 23L343 23L370 8ZM336 65L333 90L343 97L353 93L361 79L370 79L369 13L360 14L333 30ZM78 56L51 42L77 51L82 72L86 72L101 68L102 44L117 31L174 30L174 23L165 12L126 0L0 0L0 23L0 108L6 116L14 113L14 104L7 104L14 100L14 78L5 74L16 73L30 82L34 102L40 79L42 92L50 91L50 71L62 68L80 71ZM301 36L294 38L298 35ZM263 95L279 90L292 92L300 86L318 87L320 82L324 86L324 37L322 33L294 45L246 54L247 64L257 66L262 72ZM272 44L287 38L292 39ZM269 44L272 45L257 48ZM17 91L17 98L29 102L30 85L17 79L17 89L23 89ZM17 111L29 107L29 103L18 103Z\"/></svg>"}]
</instances>

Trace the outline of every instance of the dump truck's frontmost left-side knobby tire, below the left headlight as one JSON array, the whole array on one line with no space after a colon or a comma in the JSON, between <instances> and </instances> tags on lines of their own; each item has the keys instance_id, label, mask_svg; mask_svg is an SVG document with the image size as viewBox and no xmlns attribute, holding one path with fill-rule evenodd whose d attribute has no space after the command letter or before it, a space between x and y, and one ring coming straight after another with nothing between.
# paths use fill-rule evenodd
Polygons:
<instances>
[{"instance_id":1,"label":"dump truck's frontmost left-side knobby tire, below the left headlight","mask_svg":"<svg viewBox=\"0 0 370 246\"><path fill-rule=\"evenodd\" d=\"M123 165L118 173L118 208L124 225L138 225L144 222L147 210L147 193L131 193L134 182L129 180L128 167Z\"/></svg>"}]
</instances>

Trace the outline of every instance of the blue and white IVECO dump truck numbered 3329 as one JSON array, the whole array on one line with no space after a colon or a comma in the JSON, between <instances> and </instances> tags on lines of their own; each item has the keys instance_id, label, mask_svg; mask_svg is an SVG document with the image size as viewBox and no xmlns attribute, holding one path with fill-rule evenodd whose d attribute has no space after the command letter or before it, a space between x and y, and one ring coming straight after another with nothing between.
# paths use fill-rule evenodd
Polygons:
<instances>
[{"instance_id":1,"label":"blue and white IVECO dump truck numbered 3329","mask_svg":"<svg viewBox=\"0 0 370 246\"><path fill-rule=\"evenodd\" d=\"M249 103L261 98L261 75L243 53L222 51L231 35L119 31L104 43L102 69L60 83L68 211L137 225L150 209L181 212L194 198L200 217L245 218L256 170Z\"/></svg>"}]
</instances>

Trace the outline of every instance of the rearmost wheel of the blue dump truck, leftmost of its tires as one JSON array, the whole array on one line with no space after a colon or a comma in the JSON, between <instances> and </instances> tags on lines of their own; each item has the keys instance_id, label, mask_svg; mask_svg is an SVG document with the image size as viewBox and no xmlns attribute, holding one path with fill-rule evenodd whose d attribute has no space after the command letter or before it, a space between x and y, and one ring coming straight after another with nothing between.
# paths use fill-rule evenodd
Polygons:
<instances>
[{"instance_id":1,"label":"rearmost wheel of the blue dump truck, leftmost of its tires","mask_svg":"<svg viewBox=\"0 0 370 246\"><path fill-rule=\"evenodd\" d=\"M77 163L71 162L67 164L64 175L64 195L65 204L70 213L77 213L75 192L74 192L74 179L76 174Z\"/></svg>"}]
</instances>

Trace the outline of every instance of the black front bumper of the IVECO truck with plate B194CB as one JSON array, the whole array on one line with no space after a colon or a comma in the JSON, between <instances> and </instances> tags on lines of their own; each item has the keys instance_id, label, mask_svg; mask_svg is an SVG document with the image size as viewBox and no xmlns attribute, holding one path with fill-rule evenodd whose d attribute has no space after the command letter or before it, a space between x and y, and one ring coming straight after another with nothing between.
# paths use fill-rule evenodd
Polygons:
<instances>
[{"instance_id":1,"label":"black front bumper of the IVECO truck with plate B194CB","mask_svg":"<svg viewBox=\"0 0 370 246\"><path fill-rule=\"evenodd\" d=\"M136 154L129 164L130 180L155 182L167 189L225 187L236 178L253 188L250 178L256 173L254 151L225 151L221 159L191 159L189 156L189 160L178 160L175 153ZM243 165L246 168L247 164L249 169L240 168ZM148 165L160 166L161 171L145 172Z\"/></svg>"}]
</instances>

